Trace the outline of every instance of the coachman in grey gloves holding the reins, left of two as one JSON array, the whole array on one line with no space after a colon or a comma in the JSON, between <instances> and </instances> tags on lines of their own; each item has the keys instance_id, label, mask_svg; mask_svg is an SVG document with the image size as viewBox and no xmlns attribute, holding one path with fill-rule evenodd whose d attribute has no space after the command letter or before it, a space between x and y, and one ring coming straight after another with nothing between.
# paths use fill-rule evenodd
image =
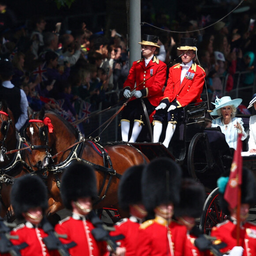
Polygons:
<instances>
[{"instance_id":1,"label":"coachman in grey gloves holding the reins, left of two","mask_svg":"<svg viewBox=\"0 0 256 256\"><path fill-rule=\"evenodd\" d=\"M124 97L132 97L132 99L121 114L123 141L128 141L130 121L134 121L134 124L129 142L136 142L142 125L146 121L141 100L150 116L163 96L162 88L166 82L166 64L154 55L156 47L160 47L157 43L157 36L143 35L143 41L139 42L143 58L133 62L128 78L124 82Z\"/></svg>"}]
</instances>

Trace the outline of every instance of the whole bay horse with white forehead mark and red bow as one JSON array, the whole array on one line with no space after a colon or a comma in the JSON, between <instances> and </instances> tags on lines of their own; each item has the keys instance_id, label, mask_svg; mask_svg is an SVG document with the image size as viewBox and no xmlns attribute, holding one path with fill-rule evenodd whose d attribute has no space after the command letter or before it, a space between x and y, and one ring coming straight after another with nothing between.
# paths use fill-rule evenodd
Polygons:
<instances>
[{"instance_id":1,"label":"whole bay horse with white forehead mark and red bow","mask_svg":"<svg viewBox=\"0 0 256 256\"><path fill-rule=\"evenodd\" d=\"M102 147L95 140L85 140L78 130L58 114L41 110L33 113L28 109L29 125L26 137L32 153L32 166L48 171L49 200L48 215L64 208L60 197L60 179L64 168L72 161L83 161L94 167L98 202L95 208L116 207L118 209L117 187L119 179L130 166L149 162L135 147L121 143L109 143Z\"/></svg>"}]
</instances>

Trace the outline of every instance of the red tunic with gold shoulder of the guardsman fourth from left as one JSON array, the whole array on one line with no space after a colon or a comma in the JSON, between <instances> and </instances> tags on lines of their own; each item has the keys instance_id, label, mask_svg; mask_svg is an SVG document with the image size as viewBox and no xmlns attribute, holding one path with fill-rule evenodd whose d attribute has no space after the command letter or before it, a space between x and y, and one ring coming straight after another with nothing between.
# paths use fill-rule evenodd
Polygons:
<instances>
[{"instance_id":1,"label":"red tunic with gold shoulder of the guardsman fourth from left","mask_svg":"<svg viewBox=\"0 0 256 256\"><path fill-rule=\"evenodd\" d=\"M137 256L185 256L187 229L176 222L167 226L166 219L157 216L139 227Z\"/></svg>"}]
</instances>

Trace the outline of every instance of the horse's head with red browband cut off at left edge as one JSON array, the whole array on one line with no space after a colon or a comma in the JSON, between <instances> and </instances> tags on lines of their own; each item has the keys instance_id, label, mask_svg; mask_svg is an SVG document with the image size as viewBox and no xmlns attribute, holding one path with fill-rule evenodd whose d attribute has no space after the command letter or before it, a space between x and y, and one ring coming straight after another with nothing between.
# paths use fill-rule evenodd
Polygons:
<instances>
[{"instance_id":1,"label":"horse's head with red browband cut off at left edge","mask_svg":"<svg viewBox=\"0 0 256 256\"><path fill-rule=\"evenodd\" d=\"M6 102L0 102L0 162L4 162L7 150L14 149L16 143L15 122Z\"/></svg>"}]
</instances>

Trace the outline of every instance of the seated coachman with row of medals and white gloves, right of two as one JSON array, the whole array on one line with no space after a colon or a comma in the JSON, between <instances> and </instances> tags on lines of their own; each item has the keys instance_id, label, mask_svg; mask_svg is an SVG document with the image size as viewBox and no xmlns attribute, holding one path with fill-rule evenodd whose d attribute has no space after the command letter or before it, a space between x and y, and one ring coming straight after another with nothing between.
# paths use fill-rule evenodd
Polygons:
<instances>
[{"instance_id":1,"label":"seated coachman with row of medals and white gloves, right of two","mask_svg":"<svg viewBox=\"0 0 256 256\"><path fill-rule=\"evenodd\" d=\"M154 115L154 142L158 142L162 133L162 123L168 117L166 138L163 142L168 148L169 142L180 121L181 110L190 103L201 102L205 72L193 58L196 56L196 39L181 38L181 46L177 48L183 53L182 63L169 69L169 78L160 104Z\"/></svg>"}]
</instances>

